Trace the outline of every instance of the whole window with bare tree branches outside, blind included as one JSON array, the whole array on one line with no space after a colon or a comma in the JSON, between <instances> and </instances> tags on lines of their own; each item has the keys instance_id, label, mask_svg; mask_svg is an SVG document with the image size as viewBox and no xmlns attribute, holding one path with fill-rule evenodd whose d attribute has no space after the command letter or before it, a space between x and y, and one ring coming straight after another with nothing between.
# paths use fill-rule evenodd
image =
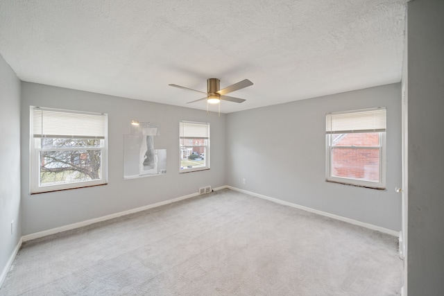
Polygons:
<instances>
[{"instance_id":1,"label":"whole window with bare tree branches outside, blind included","mask_svg":"<svg viewBox=\"0 0 444 296\"><path fill-rule=\"evenodd\" d=\"M31 193L107 182L107 115L31 107Z\"/></svg>"}]
</instances>

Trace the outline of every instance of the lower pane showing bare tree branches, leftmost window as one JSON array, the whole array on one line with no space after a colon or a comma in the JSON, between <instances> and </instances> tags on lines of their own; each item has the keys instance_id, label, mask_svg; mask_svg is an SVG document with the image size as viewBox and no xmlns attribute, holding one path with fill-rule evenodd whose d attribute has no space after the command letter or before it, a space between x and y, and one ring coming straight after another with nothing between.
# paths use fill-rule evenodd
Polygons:
<instances>
[{"instance_id":1,"label":"lower pane showing bare tree branches, leftmost window","mask_svg":"<svg viewBox=\"0 0 444 296\"><path fill-rule=\"evenodd\" d=\"M101 150L40 152L41 186L99 180L100 178Z\"/></svg>"}]
</instances>

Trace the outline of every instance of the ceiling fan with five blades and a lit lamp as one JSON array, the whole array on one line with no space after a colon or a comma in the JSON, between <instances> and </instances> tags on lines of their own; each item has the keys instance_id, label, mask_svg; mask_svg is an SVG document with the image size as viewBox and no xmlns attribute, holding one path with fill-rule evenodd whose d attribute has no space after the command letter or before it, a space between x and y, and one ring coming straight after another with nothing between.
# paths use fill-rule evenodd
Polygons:
<instances>
[{"instance_id":1,"label":"ceiling fan with five blades and a lit lamp","mask_svg":"<svg viewBox=\"0 0 444 296\"><path fill-rule=\"evenodd\" d=\"M219 83L221 80L217 78L208 78L207 79L207 92L200 92L196 89L189 89L188 87L181 87L180 85L170 85L172 87L178 87L180 89L188 89L193 92L200 92L201 94L206 94L205 98L199 98L196 101L191 101L188 103L194 103L198 101L207 100L207 103L210 104L217 104L221 100L223 101L230 101L234 103L242 103L244 102L244 98L234 98L232 96L225 96L225 94L229 94L230 92L235 92L239 89L243 89L244 87L249 87L250 85L253 85L253 82L251 82L248 79L244 79L242 81L239 81L237 83L234 83L234 85L230 85L229 87L225 87L223 89L220 89Z\"/></svg>"}]
</instances>

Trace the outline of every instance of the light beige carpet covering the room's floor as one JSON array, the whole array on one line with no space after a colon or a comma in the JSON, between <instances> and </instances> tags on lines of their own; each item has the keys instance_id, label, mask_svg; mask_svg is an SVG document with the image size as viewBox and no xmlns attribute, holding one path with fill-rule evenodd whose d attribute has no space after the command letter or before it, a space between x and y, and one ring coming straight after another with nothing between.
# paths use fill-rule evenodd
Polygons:
<instances>
[{"instance_id":1,"label":"light beige carpet covering the room's floor","mask_svg":"<svg viewBox=\"0 0 444 296\"><path fill-rule=\"evenodd\" d=\"M399 295L397 247L224 189L28 241L0 295Z\"/></svg>"}]
</instances>

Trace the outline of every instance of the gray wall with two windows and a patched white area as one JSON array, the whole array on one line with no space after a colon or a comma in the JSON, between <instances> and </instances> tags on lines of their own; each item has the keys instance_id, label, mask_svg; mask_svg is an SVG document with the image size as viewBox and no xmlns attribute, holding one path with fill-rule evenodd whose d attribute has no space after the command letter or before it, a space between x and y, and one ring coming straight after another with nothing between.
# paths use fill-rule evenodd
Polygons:
<instances>
[{"instance_id":1,"label":"gray wall with two windows and a patched white area","mask_svg":"<svg viewBox=\"0 0 444 296\"><path fill-rule=\"evenodd\" d=\"M108 113L108 185L29 194L29 107ZM22 82L23 234L78 223L197 193L225 182L225 114ZM167 174L123 180L123 134L131 120L160 123L155 148L167 149ZM210 123L211 169L179 174L179 121Z\"/></svg>"}]
</instances>

